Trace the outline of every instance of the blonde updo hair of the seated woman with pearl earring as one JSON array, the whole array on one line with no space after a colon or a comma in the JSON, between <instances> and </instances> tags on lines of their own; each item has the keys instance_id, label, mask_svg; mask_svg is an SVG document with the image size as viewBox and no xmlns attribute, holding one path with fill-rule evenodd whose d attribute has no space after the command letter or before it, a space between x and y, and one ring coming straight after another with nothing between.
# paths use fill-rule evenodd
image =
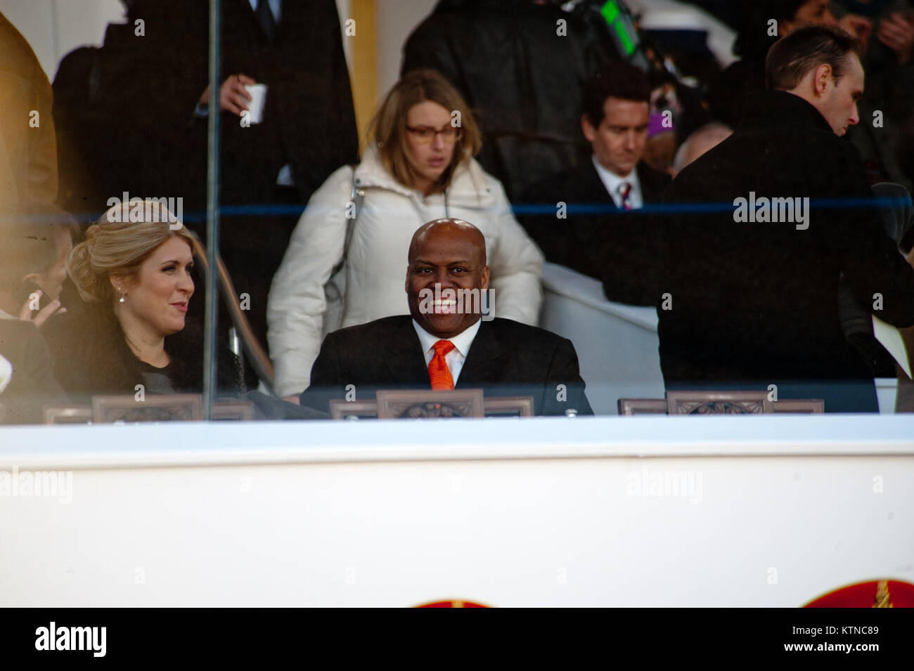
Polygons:
<instances>
[{"instance_id":1,"label":"blonde updo hair of the seated woman with pearl earring","mask_svg":"<svg viewBox=\"0 0 914 671\"><path fill-rule=\"evenodd\" d=\"M115 205L73 247L67 257L67 273L83 300L112 303L116 297L109 278L136 277L143 261L171 237L186 240L194 250L196 237L165 205L153 199Z\"/></svg>"}]
</instances>

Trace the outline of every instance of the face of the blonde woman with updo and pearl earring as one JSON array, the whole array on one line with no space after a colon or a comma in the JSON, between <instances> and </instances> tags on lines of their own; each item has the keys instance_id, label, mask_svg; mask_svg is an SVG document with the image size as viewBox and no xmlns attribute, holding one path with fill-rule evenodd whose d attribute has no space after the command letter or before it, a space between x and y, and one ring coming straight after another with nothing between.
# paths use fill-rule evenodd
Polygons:
<instances>
[{"instance_id":1,"label":"face of the blonde woman with updo and pearl earring","mask_svg":"<svg viewBox=\"0 0 914 671\"><path fill-rule=\"evenodd\" d=\"M112 276L115 295L120 296L118 288L125 294L123 303L115 303L122 324L136 324L155 337L184 329L188 303L194 294L193 267L190 245L175 236L155 248L135 278Z\"/></svg>"}]
</instances>

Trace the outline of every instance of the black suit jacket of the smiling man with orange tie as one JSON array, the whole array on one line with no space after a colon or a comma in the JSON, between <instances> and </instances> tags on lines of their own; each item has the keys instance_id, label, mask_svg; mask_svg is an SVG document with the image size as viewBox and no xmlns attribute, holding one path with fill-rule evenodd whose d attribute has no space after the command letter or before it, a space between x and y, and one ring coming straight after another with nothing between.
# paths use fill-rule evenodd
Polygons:
<instances>
[{"instance_id":1,"label":"black suit jacket of the smiling man with orange tie","mask_svg":"<svg viewBox=\"0 0 914 671\"><path fill-rule=\"evenodd\" d=\"M303 405L326 411L356 385L356 400L378 389L430 389L419 336L408 315L385 317L330 333L311 369ZM565 385L564 397L558 401ZM455 389L482 388L485 396L533 396L534 414L593 414L584 394L571 341L513 320L483 321Z\"/></svg>"}]
</instances>

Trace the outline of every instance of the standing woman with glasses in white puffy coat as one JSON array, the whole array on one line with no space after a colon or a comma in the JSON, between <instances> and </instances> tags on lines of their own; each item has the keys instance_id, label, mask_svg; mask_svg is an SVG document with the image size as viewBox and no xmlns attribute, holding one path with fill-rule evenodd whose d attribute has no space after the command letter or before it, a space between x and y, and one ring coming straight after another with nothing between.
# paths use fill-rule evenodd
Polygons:
<instances>
[{"instance_id":1,"label":"standing woman with glasses in white puffy coat","mask_svg":"<svg viewBox=\"0 0 914 671\"><path fill-rule=\"evenodd\" d=\"M374 142L355 173L340 168L312 195L273 278L267 340L281 396L307 388L330 330L409 314L409 240L432 219L453 216L478 227L494 316L537 324L543 256L512 215L502 184L473 159L480 134L456 89L433 70L413 70L381 102L370 132ZM363 195L353 198L354 189ZM328 313L324 286L344 254L343 277L334 279L334 287L345 285L340 319L333 306Z\"/></svg>"}]
</instances>

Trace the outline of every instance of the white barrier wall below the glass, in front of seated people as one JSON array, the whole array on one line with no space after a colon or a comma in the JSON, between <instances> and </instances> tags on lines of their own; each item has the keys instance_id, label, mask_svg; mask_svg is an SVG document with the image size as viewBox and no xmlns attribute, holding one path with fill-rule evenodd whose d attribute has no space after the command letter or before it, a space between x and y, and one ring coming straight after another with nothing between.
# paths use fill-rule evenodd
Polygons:
<instances>
[{"instance_id":1,"label":"white barrier wall below the glass, in front of seated people","mask_svg":"<svg viewBox=\"0 0 914 671\"><path fill-rule=\"evenodd\" d=\"M901 415L5 429L0 606L799 606L914 582L911 436Z\"/></svg>"}]
</instances>

